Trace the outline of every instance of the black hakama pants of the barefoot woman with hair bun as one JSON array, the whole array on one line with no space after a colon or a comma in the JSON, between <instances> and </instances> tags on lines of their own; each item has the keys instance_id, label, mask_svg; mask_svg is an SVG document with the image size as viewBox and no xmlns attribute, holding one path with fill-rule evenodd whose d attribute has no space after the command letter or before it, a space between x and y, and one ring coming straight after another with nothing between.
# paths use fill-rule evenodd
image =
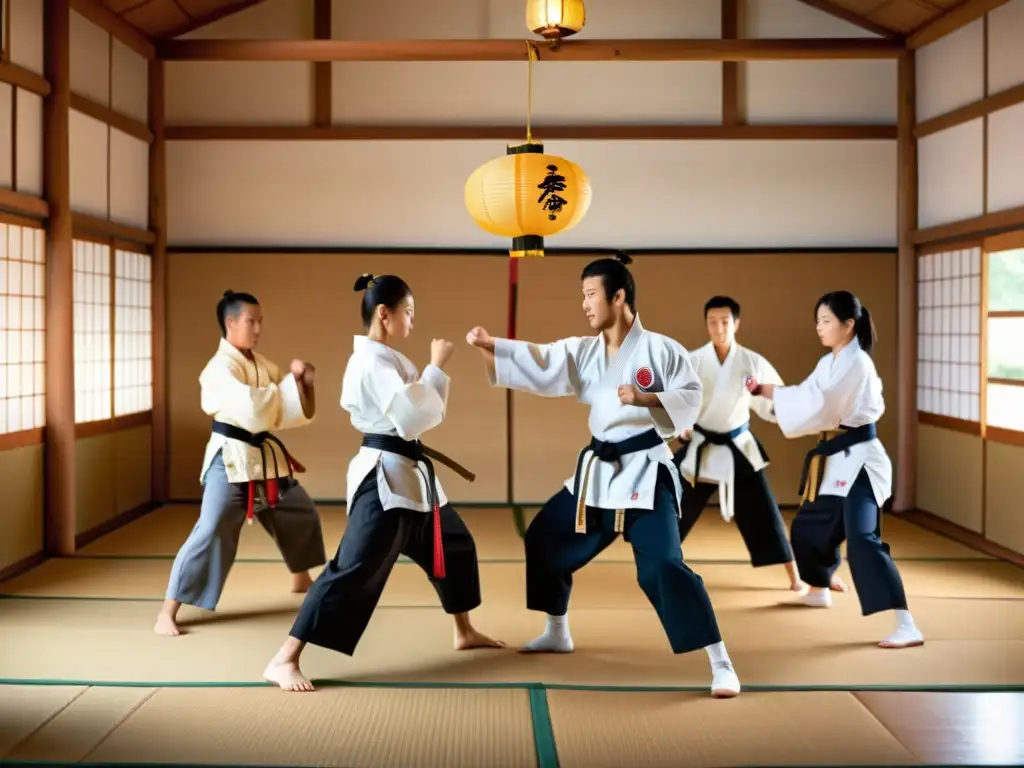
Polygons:
<instances>
[{"instance_id":1,"label":"black hakama pants of the barefoot woman with hair bun","mask_svg":"<svg viewBox=\"0 0 1024 768\"><path fill-rule=\"evenodd\" d=\"M434 579L433 514L384 509L377 472L370 472L351 500L338 552L306 593L291 636L352 655L399 555L423 569L446 613L476 608L480 574L473 536L451 504L440 516L445 577Z\"/></svg>"}]
</instances>

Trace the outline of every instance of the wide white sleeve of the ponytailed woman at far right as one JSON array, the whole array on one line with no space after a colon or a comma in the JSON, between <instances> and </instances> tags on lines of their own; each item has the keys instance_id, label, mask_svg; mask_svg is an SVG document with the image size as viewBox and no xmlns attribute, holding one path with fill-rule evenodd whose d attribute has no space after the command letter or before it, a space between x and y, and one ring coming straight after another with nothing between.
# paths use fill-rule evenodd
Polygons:
<instances>
[{"instance_id":1,"label":"wide white sleeve of the ponytailed woman at far right","mask_svg":"<svg viewBox=\"0 0 1024 768\"><path fill-rule=\"evenodd\" d=\"M775 420L786 437L836 429L867 386L869 372L857 357L831 374L821 370L828 365L823 359L800 384L775 389Z\"/></svg>"}]
</instances>

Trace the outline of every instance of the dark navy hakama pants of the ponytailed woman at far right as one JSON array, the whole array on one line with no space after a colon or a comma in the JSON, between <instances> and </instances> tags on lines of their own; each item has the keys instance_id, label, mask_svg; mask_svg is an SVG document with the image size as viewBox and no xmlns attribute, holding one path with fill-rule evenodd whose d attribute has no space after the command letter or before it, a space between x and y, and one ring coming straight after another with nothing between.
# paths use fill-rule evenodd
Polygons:
<instances>
[{"instance_id":1,"label":"dark navy hakama pants of the ponytailed woman at far right","mask_svg":"<svg viewBox=\"0 0 1024 768\"><path fill-rule=\"evenodd\" d=\"M863 615L906 609L906 593L889 545L882 541L882 510L863 469L845 498L819 495L793 520L793 551L801 578L826 589L846 542L853 586Z\"/></svg>"}]
</instances>

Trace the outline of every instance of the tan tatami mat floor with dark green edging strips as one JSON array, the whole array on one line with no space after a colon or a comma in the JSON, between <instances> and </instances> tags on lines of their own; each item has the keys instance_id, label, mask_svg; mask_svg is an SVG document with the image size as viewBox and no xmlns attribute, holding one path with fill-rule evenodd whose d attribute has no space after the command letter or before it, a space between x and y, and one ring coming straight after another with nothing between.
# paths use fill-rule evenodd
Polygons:
<instances>
[{"instance_id":1,"label":"tan tatami mat floor with dark green edging strips","mask_svg":"<svg viewBox=\"0 0 1024 768\"><path fill-rule=\"evenodd\" d=\"M344 511L323 512L333 550ZM497 509L465 511L481 560L474 621L513 648L455 652L432 589L401 563L355 656L310 648L323 686L286 694L260 673L301 598L258 525L222 609L183 610L180 638L152 632L196 513L166 507L0 583L0 762L1024 764L1024 570L899 518L886 539L928 643L893 652L874 646L887 617L860 616L852 594L829 611L791 607L781 569L751 568L735 526L705 515L685 554L745 687L717 701L707 658L668 649L623 543L579 574L577 652L515 653L543 620L523 607L522 542Z\"/></svg>"}]
</instances>

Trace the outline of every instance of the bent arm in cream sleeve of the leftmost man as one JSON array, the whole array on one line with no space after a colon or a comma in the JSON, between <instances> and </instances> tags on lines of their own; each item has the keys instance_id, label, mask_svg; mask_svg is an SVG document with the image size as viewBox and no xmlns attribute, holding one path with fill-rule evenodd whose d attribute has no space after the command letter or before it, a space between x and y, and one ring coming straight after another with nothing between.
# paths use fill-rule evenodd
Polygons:
<instances>
[{"instance_id":1,"label":"bent arm in cream sleeve of the leftmost man","mask_svg":"<svg viewBox=\"0 0 1024 768\"><path fill-rule=\"evenodd\" d=\"M199 381L203 412L249 432L282 429L286 415L302 413L299 385L291 373L266 386L251 387L230 365L214 359L200 374Z\"/></svg>"}]
</instances>

